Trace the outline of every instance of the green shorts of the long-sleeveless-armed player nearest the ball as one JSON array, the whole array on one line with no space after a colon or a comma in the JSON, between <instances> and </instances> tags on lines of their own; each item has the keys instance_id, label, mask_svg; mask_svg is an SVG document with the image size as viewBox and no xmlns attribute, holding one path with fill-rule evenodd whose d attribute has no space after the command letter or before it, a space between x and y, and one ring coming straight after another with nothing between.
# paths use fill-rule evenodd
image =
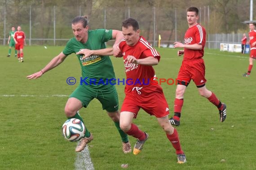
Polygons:
<instances>
[{"instance_id":1,"label":"green shorts of the long-sleeveless-armed player nearest the ball","mask_svg":"<svg viewBox=\"0 0 256 170\"><path fill-rule=\"evenodd\" d=\"M102 109L107 112L115 112L119 108L118 95L114 85L102 90L79 85L69 97L77 98L84 107L87 107L93 98L97 98L102 103Z\"/></svg>"}]
</instances>

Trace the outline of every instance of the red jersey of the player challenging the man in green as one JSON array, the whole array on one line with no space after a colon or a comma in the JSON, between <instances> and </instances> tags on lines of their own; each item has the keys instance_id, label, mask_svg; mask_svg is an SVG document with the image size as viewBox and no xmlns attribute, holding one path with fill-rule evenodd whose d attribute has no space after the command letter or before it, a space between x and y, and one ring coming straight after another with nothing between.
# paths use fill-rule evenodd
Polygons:
<instances>
[{"instance_id":1,"label":"red jersey of the player challenging the man in green","mask_svg":"<svg viewBox=\"0 0 256 170\"><path fill-rule=\"evenodd\" d=\"M160 60L159 53L150 46L146 39L140 36L139 41L134 46L129 46L123 39L119 43L119 48L123 54L124 67L126 73L125 93L132 91L133 87L145 87L150 85L154 77L154 69L152 66L128 63L125 59L128 55L134 56L136 59L144 59L146 57L156 57Z\"/></svg>"}]
</instances>

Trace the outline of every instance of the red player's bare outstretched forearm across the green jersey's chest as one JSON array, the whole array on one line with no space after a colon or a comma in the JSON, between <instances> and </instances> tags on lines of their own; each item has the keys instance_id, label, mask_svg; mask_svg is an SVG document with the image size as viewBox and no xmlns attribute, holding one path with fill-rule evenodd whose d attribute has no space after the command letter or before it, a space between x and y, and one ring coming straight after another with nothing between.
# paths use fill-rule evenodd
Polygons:
<instances>
[{"instance_id":1,"label":"red player's bare outstretched forearm across the green jersey's chest","mask_svg":"<svg viewBox=\"0 0 256 170\"><path fill-rule=\"evenodd\" d=\"M77 53L75 54L84 54L82 59L85 59L89 57L90 55L113 55L113 49L112 48L104 48L100 50L88 50L88 49L80 49Z\"/></svg>"}]
</instances>

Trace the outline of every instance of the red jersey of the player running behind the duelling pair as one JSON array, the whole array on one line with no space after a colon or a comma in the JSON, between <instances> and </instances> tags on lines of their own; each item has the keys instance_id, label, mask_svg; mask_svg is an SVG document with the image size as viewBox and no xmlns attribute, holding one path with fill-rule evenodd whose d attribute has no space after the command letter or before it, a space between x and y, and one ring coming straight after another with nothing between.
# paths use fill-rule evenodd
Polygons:
<instances>
[{"instance_id":1,"label":"red jersey of the player running behind the duelling pair","mask_svg":"<svg viewBox=\"0 0 256 170\"><path fill-rule=\"evenodd\" d=\"M184 48L184 58L183 60L188 59L198 59L203 57L203 49L206 42L206 31L203 28L203 26L200 26L199 24L192 26L189 28L184 36L184 44L201 44L202 49L201 50L192 50Z\"/></svg>"}]
</instances>

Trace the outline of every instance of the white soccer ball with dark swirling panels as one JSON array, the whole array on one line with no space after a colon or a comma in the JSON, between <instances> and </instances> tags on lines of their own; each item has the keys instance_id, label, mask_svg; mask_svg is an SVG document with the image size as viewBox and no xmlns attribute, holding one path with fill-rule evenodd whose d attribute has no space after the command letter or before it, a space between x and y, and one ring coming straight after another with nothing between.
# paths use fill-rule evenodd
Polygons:
<instances>
[{"instance_id":1,"label":"white soccer ball with dark swirling panels","mask_svg":"<svg viewBox=\"0 0 256 170\"><path fill-rule=\"evenodd\" d=\"M85 127L84 123L79 119L68 119L62 125L62 135L66 140L75 142L84 137Z\"/></svg>"}]
</instances>

